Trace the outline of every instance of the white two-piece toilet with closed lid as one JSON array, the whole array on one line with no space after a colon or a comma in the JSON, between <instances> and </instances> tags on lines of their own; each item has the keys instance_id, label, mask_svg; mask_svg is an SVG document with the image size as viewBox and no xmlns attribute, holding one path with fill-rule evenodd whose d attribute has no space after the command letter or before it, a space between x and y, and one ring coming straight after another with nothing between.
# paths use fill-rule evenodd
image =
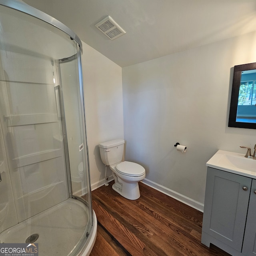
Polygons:
<instances>
[{"instance_id":1,"label":"white two-piece toilet with closed lid","mask_svg":"<svg viewBox=\"0 0 256 256\"><path fill-rule=\"evenodd\" d=\"M110 140L99 144L102 162L109 166L115 180L112 188L121 196L136 200L140 197L138 182L146 176L144 167L134 162L122 162L124 140Z\"/></svg>"}]
</instances>

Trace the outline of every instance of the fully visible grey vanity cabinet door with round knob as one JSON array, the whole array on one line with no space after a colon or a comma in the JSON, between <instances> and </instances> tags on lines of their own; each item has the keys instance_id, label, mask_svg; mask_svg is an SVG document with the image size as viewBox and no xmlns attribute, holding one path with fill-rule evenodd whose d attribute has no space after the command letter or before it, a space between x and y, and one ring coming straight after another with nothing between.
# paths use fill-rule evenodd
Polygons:
<instances>
[{"instance_id":1,"label":"fully visible grey vanity cabinet door with round knob","mask_svg":"<svg viewBox=\"0 0 256 256\"><path fill-rule=\"evenodd\" d=\"M202 230L240 252L251 183L251 178L208 167Z\"/></svg>"}]
</instances>

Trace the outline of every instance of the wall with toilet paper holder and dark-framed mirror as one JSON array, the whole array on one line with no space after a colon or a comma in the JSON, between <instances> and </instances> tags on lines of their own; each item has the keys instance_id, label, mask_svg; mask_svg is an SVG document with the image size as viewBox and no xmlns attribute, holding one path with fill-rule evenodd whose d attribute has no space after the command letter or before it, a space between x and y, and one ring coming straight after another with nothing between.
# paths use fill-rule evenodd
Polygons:
<instances>
[{"instance_id":1,"label":"wall with toilet paper holder and dark-framed mirror","mask_svg":"<svg viewBox=\"0 0 256 256\"><path fill-rule=\"evenodd\" d=\"M256 130L228 127L232 67L250 62L256 33L122 69L126 160L146 168L146 183L202 210L207 160L256 143Z\"/></svg>"}]
</instances>

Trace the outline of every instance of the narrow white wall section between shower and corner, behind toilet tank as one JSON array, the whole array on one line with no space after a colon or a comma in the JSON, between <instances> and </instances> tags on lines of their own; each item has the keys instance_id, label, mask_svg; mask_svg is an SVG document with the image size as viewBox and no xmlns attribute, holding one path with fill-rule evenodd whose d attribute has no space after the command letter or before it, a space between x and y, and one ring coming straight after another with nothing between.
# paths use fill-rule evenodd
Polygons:
<instances>
[{"instance_id":1,"label":"narrow white wall section between shower and corner, behind toilet tank","mask_svg":"<svg viewBox=\"0 0 256 256\"><path fill-rule=\"evenodd\" d=\"M87 143L92 190L105 183L100 142L124 138L122 68L83 42ZM111 175L108 169L107 175Z\"/></svg>"}]
</instances>

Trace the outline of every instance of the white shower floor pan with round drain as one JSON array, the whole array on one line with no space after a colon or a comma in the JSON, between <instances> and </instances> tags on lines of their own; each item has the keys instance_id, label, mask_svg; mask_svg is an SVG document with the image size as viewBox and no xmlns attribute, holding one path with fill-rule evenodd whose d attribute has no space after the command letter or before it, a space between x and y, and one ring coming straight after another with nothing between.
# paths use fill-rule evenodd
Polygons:
<instances>
[{"instance_id":1,"label":"white shower floor pan with round drain","mask_svg":"<svg viewBox=\"0 0 256 256\"><path fill-rule=\"evenodd\" d=\"M28 220L4 230L0 234L0 241L1 243L25 243L29 236L38 234L39 236L34 243L38 243L40 256L72 255L72 250L76 247L84 230L86 230L87 215L87 206L79 200L69 198ZM96 218L94 218L95 221ZM80 253L79 255L84 256L86 254Z\"/></svg>"}]
</instances>

